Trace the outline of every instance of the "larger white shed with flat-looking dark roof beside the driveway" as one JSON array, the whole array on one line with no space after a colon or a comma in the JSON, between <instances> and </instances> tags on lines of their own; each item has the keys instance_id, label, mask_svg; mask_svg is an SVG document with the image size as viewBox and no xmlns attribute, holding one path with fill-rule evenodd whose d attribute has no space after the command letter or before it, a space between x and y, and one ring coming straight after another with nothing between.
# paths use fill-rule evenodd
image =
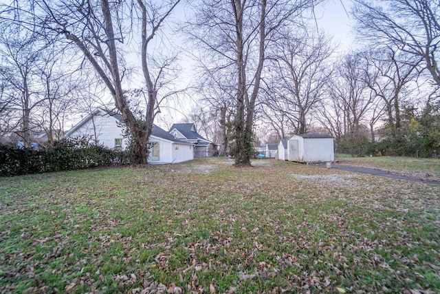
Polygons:
<instances>
[{"instance_id":1,"label":"larger white shed with flat-looking dark roof beside the driveway","mask_svg":"<svg viewBox=\"0 0 440 294\"><path fill-rule=\"evenodd\" d=\"M333 137L324 134L297 134L287 140L289 161L313 163L333 162Z\"/></svg>"}]
</instances>

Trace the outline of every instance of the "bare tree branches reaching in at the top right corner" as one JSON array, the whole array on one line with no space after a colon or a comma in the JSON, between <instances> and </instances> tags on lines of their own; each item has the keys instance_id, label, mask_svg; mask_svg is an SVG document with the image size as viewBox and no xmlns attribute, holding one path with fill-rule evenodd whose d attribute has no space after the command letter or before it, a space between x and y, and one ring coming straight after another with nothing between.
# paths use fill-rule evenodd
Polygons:
<instances>
[{"instance_id":1,"label":"bare tree branches reaching in at the top right corner","mask_svg":"<svg viewBox=\"0 0 440 294\"><path fill-rule=\"evenodd\" d=\"M355 0L358 32L375 45L386 45L423 59L440 85L440 2L438 0Z\"/></svg>"}]
</instances>

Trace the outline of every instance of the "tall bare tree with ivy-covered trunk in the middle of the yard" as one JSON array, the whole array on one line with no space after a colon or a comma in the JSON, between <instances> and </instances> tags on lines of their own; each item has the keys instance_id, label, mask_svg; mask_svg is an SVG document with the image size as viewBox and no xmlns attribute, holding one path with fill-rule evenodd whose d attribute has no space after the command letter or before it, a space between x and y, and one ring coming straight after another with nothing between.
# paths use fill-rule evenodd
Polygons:
<instances>
[{"instance_id":1,"label":"tall bare tree with ivy-covered trunk in the middle of the yard","mask_svg":"<svg viewBox=\"0 0 440 294\"><path fill-rule=\"evenodd\" d=\"M320 1L212 1L198 6L188 34L204 50L210 68L236 68L233 120L235 165L249 166L256 99L265 50L285 25Z\"/></svg>"}]
</instances>

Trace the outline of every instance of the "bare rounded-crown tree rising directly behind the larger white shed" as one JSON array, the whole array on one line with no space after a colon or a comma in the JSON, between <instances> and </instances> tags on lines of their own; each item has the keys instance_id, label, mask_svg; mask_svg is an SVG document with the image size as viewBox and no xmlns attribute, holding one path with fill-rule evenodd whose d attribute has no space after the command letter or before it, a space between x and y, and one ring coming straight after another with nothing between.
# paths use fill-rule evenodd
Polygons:
<instances>
[{"instance_id":1,"label":"bare rounded-crown tree rising directly behind the larger white shed","mask_svg":"<svg viewBox=\"0 0 440 294\"><path fill-rule=\"evenodd\" d=\"M307 116L318 106L333 72L332 53L331 40L322 33L318 36L305 33L300 37L286 34L277 42L271 73L276 76L281 94L273 97L275 101L271 105L275 112L295 121L295 132L307 132ZM273 89L276 86L270 87L268 92ZM278 103L279 99L285 101L288 109Z\"/></svg>"}]
</instances>

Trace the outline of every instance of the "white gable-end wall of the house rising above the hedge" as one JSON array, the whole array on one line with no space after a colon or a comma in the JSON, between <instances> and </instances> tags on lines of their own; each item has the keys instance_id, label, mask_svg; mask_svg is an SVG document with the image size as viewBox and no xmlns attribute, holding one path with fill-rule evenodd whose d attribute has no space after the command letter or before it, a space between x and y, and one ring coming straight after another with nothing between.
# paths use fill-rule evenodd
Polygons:
<instances>
[{"instance_id":1,"label":"white gable-end wall of the house rising above the hedge","mask_svg":"<svg viewBox=\"0 0 440 294\"><path fill-rule=\"evenodd\" d=\"M127 146L127 141L122 136L122 128L118 127L118 120L109 115L94 115L93 120L87 122L69 134L69 137L91 136L92 140L98 138L98 143L108 148L115 147L115 138L122 138L122 149Z\"/></svg>"}]
</instances>

